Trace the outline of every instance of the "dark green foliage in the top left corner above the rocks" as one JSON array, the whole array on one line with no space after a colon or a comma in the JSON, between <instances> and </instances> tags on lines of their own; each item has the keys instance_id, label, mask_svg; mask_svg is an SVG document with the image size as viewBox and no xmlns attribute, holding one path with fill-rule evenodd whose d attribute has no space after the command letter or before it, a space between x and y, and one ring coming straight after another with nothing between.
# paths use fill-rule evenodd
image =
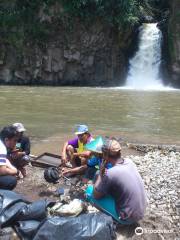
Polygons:
<instances>
[{"instance_id":1,"label":"dark green foliage in the top left corner above the rocks","mask_svg":"<svg viewBox=\"0 0 180 240\"><path fill-rule=\"evenodd\" d=\"M48 37L47 23L38 13L46 1L14 0L0 2L0 43L21 47L24 40L43 41Z\"/></svg>"}]
</instances>

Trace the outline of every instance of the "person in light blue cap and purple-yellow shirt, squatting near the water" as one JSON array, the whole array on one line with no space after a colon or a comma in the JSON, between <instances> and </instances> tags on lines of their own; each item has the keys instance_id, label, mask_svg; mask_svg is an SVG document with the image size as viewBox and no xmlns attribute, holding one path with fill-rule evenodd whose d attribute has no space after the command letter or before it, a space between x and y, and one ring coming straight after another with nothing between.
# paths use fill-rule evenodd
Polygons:
<instances>
[{"instance_id":1,"label":"person in light blue cap and purple-yellow shirt, squatting near the water","mask_svg":"<svg viewBox=\"0 0 180 240\"><path fill-rule=\"evenodd\" d=\"M76 138L67 141L62 150L62 161L66 166L71 163L72 169L63 169L64 175L78 174L84 171L87 167L87 159L91 155L91 151L85 150L85 144L93 140L86 125L78 125L75 131Z\"/></svg>"}]
</instances>

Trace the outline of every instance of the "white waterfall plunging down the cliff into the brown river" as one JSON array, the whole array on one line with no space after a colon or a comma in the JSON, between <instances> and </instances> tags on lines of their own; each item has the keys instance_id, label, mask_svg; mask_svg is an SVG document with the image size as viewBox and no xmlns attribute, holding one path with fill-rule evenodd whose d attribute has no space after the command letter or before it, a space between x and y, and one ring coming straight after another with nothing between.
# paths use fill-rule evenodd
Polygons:
<instances>
[{"instance_id":1,"label":"white waterfall plunging down the cliff into the brown river","mask_svg":"<svg viewBox=\"0 0 180 240\"><path fill-rule=\"evenodd\" d=\"M139 49L129 61L126 87L135 89L162 88L159 78L162 33L156 23L145 23L139 34Z\"/></svg>"}]
</instances>

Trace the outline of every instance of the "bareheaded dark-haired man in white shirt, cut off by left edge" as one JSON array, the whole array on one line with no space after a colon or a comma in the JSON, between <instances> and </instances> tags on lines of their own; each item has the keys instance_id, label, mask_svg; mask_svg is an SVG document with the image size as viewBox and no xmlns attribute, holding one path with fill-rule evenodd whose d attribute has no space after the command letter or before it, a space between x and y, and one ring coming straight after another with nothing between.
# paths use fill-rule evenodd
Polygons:
<instances>
[{"instance_id":1,"label":"bareheaded dark-haired man in white shirt, cut off by left edge","mask_svg":"<svg viewBox=\"0 0 180 240\"><path fill-rule=\"evenodd\" d=\"M4 127L0 132L0 189L13 190L16 187L18 170L7 159L7 148L14 149L16 142L16 128Z\"/></svg>"}]
</instances>

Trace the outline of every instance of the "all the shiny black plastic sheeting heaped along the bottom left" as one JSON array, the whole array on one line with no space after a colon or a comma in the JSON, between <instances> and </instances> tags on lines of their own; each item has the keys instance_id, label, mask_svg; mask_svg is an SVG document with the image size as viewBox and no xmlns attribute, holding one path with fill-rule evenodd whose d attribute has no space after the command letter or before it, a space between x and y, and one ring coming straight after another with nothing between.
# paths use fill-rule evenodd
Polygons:
<instances>
[{"instance_id":1,"label":"all the shiny black plastic sheeting heaped along the bottom left","mask_svg":"<svg viewBox=\"0 0 180 240\"><path fill-rule=\"evenodd\" d=\"M13 227L22 240L112 240L113 220L103 213L47 217L54 202L33 203L20 194L0 190L0 226Z\"/></svg>"}]
</instances>

